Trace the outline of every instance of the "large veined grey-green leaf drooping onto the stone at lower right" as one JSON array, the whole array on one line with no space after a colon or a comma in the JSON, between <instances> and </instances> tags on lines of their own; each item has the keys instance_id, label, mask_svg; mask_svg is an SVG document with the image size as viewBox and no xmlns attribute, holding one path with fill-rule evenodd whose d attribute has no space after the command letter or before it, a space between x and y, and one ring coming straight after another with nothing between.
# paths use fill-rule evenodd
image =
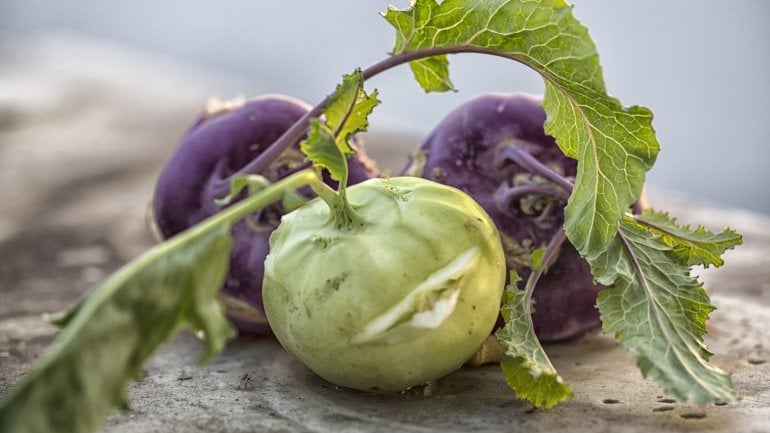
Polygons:
<instances>
[{"instance_id":1,"label":"large veined grey-green leaf drooping onto the stone at lower right","mask_svg":"<svg viewBox=\"0 0 770 433\"><path fill-rule=\"evenodd\" d=\"M729 374L703 343L714 306L662 236L626 218L606 253L591 261L602 326L636 355L645 377L679 400L735 400Z\"/></svg>"}]
</instances>

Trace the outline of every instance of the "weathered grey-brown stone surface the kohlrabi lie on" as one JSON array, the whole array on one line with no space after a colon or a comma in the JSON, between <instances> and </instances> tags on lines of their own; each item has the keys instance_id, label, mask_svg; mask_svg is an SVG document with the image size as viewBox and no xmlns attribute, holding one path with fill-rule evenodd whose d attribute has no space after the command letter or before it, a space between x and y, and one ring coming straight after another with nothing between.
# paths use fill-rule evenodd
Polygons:
<instances>
[{"instance_id":1,"label":"weathered grey-brown stone surface the kohlrabi lie on","mask_svg":"<svg viewBox=\"0 0 770 433\"><path fill-rule=\"evenodd\" d=\"M53 339L42 313L68 306L151 245L143 215L155 176L213 90L114 52L110 65L86 71L81 62L102 58L99 50L54 48L4 52L0 69L0 395ZM377 146L390 141L371 136L370 153L397 167L403 146ZM702 272L718 306L706 342L713 362L733 373L738 402L676 403L598 332L546 347L574 389L548 411L517 400L497 366L368 395L317 378L270 338L235 340L200 366L199 342L182 333L146 365L130 387L131 410L113 413L104 431L770 430L770 220L671 192L651 200L682 221L745 234L724 268Z\"/></svg>"}]
</instances>

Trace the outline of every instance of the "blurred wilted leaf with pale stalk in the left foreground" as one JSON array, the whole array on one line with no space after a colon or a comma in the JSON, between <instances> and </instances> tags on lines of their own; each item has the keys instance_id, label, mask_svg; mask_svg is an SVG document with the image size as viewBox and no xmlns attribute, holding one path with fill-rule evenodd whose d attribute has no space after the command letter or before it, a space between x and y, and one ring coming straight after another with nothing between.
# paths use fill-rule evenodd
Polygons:
<instances>
[{"instance_id":1,"label":"blurred wilted leaf with pale stalk in the left foreground","mask_svg":"<svg viewBox=\"0 0 770 433\"><path fill-rule=\"evenodd\" d=\"M49 351L0 402L0 432L87 433L123 405L128 382L182 326L205 340L202 360L219 353L233 328L217 302L235 221L287 190L323 182L295 173L158 244L112 274L63 314Z\"/></svg>"}]
</instances>

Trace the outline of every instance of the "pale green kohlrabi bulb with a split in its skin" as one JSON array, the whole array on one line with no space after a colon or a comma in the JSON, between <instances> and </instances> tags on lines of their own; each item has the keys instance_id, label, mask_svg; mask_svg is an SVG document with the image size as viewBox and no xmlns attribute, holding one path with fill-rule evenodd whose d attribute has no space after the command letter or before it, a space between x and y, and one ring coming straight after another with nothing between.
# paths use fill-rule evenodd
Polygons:
<instances>
[{"instance_id":1,"label":"pale green kohlrabi bulb with a split in its skin","mask_svg":"<svg viewBox=\"0 0 770 433\"><path fill-rule=\"evenodd\" d=\"M362 225L336 229L316 199L285 215L271 236L262 290L276 337L319 376L364 391L397 392L459 368L500 309L506 268L492 220L462 191L420 178L371 179L348 197ZM407 312L397 324L421 310L419 299L422 310L435 308L426 307L430 294L404 299L442 272L456 279L436 277L447 281L428 293L443 295L442 305L456 290L459 297L436 328L366 334L400 302Z\"/></svg>"}]
</instances>

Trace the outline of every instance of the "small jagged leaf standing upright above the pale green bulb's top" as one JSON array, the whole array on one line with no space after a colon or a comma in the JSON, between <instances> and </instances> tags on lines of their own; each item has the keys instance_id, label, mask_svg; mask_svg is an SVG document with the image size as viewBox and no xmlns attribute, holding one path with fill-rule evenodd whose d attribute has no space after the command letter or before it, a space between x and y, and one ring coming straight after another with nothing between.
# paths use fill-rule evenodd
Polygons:
<instances>
[{"instance_id":1,"label":"small jagged leaf standing upright above the pale green bulb's top","mask_svg":"<svg viewBox=\"0 0 770 433\"><path fill-rule=\"evenodd\" d=\"M347 183L347 159L355 154L350 138L366 131L368 116L379 104L377 91L367 95L361 70L345 75L329 97L325 122L311 119L308 138L300 143L302 152L317 167L325 168L332 178Z\"/></svg>"}]
</instances>

